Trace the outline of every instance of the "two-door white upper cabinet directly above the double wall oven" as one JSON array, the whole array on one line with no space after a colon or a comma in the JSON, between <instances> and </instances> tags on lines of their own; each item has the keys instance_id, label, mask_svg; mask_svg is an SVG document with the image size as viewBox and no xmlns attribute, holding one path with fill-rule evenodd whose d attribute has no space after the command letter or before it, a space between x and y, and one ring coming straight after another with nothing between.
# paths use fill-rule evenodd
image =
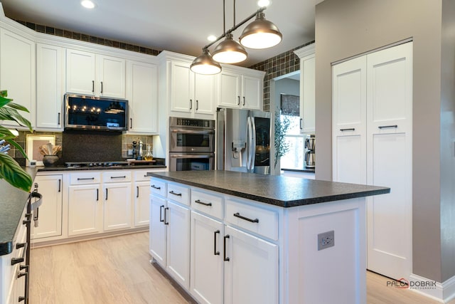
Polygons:
<instances>
[{"instance_id":1,"label":"two-door white upper cabinet directly above the double wall oven","mask_svg":"<svg viewBox=\"0 0 455 304\"><path fill-rule=\"evenodd\" d=\"M171 112L176 115L214 115L215 85L213 75L191 72L189 62L171 62Z\"/></svg>"}]
</instances>

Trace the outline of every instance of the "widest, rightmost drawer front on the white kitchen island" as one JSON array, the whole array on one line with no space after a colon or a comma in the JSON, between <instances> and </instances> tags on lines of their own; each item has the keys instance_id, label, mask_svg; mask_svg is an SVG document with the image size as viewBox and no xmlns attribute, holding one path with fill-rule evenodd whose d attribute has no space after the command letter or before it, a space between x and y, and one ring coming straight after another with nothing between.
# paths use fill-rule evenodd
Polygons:
<instances>
[{"instance_id":1,"label":"widest, rightmost drawer front on the white kitchen island","mask_svg":"<svg viewBox=\"0 0 455 304\"><path fill-rule=\"evenodd\" d=\"M255 232L274 241L278 240L278 213L242 201L226 199L225 221L242 229Z\"/></svg>"}]
</instances>

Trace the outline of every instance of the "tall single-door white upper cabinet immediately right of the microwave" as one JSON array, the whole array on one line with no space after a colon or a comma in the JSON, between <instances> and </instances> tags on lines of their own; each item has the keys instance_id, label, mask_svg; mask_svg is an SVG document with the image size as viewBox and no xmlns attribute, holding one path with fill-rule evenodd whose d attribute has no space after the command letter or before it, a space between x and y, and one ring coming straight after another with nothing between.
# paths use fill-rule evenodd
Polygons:
<instances>
[{"instance_id":1,"label":"tall single-door white upper cabinet immediately right of the microwave","mask_svg":"<svg viewBox=\"0 0 455 304\"><path fill-rule=\"evenodd\" d=\"M158 132L157 73L154 64L127 61L128 132Z\"/></svg>"}]
</instances>

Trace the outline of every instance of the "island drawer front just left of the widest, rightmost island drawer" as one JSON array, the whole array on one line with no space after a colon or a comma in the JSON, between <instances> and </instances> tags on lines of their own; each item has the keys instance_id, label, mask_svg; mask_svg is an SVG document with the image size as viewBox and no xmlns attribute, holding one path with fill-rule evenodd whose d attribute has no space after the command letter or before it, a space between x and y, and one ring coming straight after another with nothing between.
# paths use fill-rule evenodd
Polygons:
<instances>
[{"instance_id":1,"label":"island drawer front just left of the widest, rightmost island drawer","mask_svg":"<svg viewBox=\"0 0 455 304\"><path fill-rule=\"evenodd\" d=\"M191 207L217 219L223 219L223 197L213 192L191 189Z\"/></svg>"}]
</instances>

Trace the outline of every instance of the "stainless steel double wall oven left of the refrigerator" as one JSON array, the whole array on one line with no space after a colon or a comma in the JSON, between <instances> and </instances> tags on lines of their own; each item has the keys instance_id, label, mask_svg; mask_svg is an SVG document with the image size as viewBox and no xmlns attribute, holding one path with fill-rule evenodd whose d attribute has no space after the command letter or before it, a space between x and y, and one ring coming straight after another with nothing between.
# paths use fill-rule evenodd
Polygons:
<instances>
[{"instance_id":1,"label":"stainless steel double wall oven left of the refrigerator","mask_svg":"<svg viewBox=\"0 0 455 304\"><path fill-rule=\"evenodd\" d=\"M215 120L169 118L169 170L215 169Z\"/></svg>"}]
</instances>

